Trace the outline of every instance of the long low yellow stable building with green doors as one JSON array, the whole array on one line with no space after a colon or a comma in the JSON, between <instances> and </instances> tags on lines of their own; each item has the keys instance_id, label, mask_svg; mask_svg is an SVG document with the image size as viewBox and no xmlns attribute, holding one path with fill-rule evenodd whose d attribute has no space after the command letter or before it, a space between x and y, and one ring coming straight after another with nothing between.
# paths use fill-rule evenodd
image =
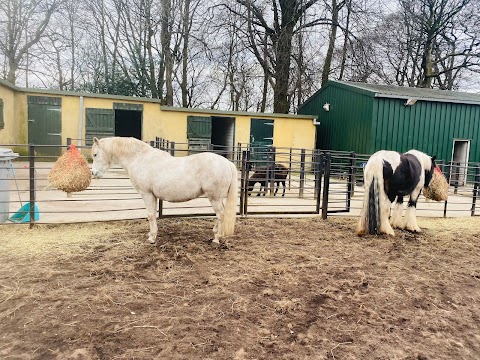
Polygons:
<instances>
[{"instance_id":1,"label":"long low yellow stable building with green doors","mask_svg":"<svg viewBox=\"0 0 480 360\"><path fill-rule=\"evenodd\" d=\"M213 147L227 157L238 143L313 149L316 118L170 107L158 99L26 89L0 80L0 144L45 145L39 155L60 155L55 145L67 138L91 145L94 136L160 137L178 150Z\"/></svg>"}]
</instances>

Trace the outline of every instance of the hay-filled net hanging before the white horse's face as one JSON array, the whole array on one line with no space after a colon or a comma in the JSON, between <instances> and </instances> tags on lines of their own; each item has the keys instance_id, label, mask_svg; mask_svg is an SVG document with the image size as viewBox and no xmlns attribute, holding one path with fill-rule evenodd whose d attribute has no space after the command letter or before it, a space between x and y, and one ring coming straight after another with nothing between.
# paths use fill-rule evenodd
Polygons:
<instances>
[{"instance_id":1,"label":"hay-filled net hanging before the white horse's face","mask_svg":"<svg viewBox=\"0 0 480 360\"><path fill-rule=\"evenodd\" d=\"M67 193L85 190L90 185L91 179L92 174L87 160L75 145L70 145L48 174L49 186Z\"/></svg>"}]
</instances>

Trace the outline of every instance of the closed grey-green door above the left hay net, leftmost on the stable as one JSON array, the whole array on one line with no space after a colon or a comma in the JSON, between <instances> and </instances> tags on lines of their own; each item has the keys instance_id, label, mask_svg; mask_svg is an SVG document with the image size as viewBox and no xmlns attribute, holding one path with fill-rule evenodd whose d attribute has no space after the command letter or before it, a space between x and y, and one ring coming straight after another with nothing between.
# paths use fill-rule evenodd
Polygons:
<instances>
[{"instance_id":1,"label":"closed grey-green door above the left hay net, leftmost on the stable","mask_svg":"<svg viewBox=\"0 0 480 360\"><path fill-rule=\"evenodd\" d=\"M28 96L28 142L35 145L37 155L58 156L62 149L62 99Z\"/></svg>"}]
</instances>

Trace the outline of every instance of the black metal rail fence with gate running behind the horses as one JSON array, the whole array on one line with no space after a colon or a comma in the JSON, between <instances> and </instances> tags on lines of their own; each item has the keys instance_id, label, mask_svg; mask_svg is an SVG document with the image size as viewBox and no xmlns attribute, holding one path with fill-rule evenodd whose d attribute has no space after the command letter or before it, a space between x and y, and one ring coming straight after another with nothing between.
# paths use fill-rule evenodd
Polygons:
<instances>
[{"instance_id":1,"label":"black metal rail fence with gate running behind the horses","mask_svg":"<svg viewBox=\"0 0 480 360\"><path fill-rule=\"evenodd\" d=\"M61 146L65 151L76 139ZM239 175L238 214L249 215L329 215L357 216L363 201L363 168L367 154L322 151L312 149L269 147L252 148L249 144L234 147L203 144L182 144L156 138L152 147L168 151L173 156L186 156L201 151L214 151L233 161ZM83 192L65 194L48 186L48 174L58 157L44 156L45 145L9 144L20 153L12 161L11 172L0 180L9 181L8 217L5 224L70 223L144 218L146 210L140 195L133 189L127 173L113 168L102 179L92 180ZM89 147L80 147L89 161ZM448 201L428 202L423 196L417 205L420 216L475 216L479 214L478 193L480 164L462 165L439 161L450 182ZM288 169L283 186L275 195L279 170L275 164ZM266 192L259 184L249 189L255 171L262 172ZM5 208L5 204L3 204ZM17 210L18 209L18 210ZM5 210L3 210L5 211ZM2 203L0 202L0 212ZM208 199L201 197L185 203L159 201L159 217L213 216Z\"/></svg>"}]
</instances>

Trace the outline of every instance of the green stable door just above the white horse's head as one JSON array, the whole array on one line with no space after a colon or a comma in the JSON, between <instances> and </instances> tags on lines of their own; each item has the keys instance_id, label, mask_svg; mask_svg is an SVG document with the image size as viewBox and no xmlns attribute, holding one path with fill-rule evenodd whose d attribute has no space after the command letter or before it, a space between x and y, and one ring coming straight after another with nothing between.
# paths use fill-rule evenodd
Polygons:
<instances>
[{"instance_id":1,"label":"green stable door just above the white horse's head","mask_svg":"<svg viewBox=\"0 0 480 360\"><path fill-rule=\"evenodd\" d=\"M85 109L85 144L91 146L93 138L115 136L115 110Z\"/></svg>"}]
</instances>

